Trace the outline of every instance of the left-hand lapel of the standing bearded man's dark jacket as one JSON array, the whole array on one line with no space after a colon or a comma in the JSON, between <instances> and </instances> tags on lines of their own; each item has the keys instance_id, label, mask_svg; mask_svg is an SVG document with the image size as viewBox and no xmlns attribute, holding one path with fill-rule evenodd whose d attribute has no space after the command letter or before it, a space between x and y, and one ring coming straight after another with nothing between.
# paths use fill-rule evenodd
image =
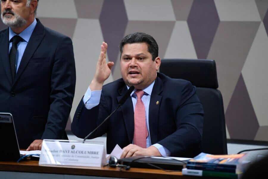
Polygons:
<instances>
[{"instance_id":1,"label":"left-hand lapel of the standing bearded man's dark jacket","mask_svg":"<svg viewBox=\"0 0 268 179\"><path fill-rule=\"evenodd\" d=\"M4 65L4 69L6 71L7 78L9 80L10 84L12 84L13 81L12 81L10 62L9 62L9 54L8 54L8 51L9 51L9 49L8 49L8 28L6 29L6 31L1 33L0 47L1 47L0 48L1 49L0 58L2 59L2 63Z\"/></svg>"}]
</instances>

